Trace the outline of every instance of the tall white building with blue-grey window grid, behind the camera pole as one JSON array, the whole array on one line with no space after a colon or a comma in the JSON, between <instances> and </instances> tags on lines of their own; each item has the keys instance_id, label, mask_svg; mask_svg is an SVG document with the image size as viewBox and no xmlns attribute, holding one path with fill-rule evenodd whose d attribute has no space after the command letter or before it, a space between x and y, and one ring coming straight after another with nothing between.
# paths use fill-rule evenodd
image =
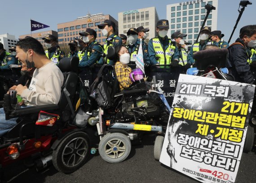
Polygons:
<instances>
[{"instance_id":1,"label":"tall white building with blue-grey window grid, behind the camera pole","mask_svg":"<svg viewBox=\"0 0 256 183\"><path fill-rule=\"evenodd\" d=\"M186 42L194 43L206 16L206 4L212 4L216 10L210 12L205 26L211 27L212 31L217 30L218 0L191 0L167 5L167 20L170 24L168 37L175 31L181 31L187 34Z\"/></svg>"}]
</instances>

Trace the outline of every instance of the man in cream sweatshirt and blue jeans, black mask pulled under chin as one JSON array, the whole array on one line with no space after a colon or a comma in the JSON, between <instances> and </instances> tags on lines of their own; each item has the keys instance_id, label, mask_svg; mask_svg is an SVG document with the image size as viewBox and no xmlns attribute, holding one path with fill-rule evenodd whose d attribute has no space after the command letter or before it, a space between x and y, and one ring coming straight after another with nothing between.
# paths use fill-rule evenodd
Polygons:
<instances>
[{"instance_id":1,"label":"man in cream sweatshirt and blue jeans, black mask pulled under chin","mask_svg":"<svg viewBox=\"0 0 256 183\"><path fill-rule=\"evenodd\" d=\"M46 57L41 43L35 38L24 38L17 43L16 52L16 58L26 63L27 68L36 68L29 87L18 85L15 89L25 99L25 106L57 104L64 77L61 70ZM4 110L0 110L0 136L3 136L15 126L17 118L5 120Z\"/></svg>"}]
</instances>

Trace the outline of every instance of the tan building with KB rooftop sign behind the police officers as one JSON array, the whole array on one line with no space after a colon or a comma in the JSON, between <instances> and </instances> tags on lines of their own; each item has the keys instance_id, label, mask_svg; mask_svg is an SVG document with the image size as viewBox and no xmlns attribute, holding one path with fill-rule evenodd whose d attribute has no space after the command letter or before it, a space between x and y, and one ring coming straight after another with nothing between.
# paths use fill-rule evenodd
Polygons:
<instances>
[{"instance_id":1,"label":"tan building with KB rooftop sign behind the police officers","mask_svg":"<svg viewBox=\"0 0 256 183\"><path fill-rule=\"evenodd\" d=\"M106 41L106 37L102 36L102 32L98 29L97 25L102 24L104 20L114 21L116 34L118 34L118 22L115 18L102 13L94 15L88 14L84 17L78 17L75 21L58 24L58 41L59 43L70 43L71 40L80 37L79 33L84 32L87 28L91 28L97 32L96 42L103 44Z\"/></svg>"}]
</instances>

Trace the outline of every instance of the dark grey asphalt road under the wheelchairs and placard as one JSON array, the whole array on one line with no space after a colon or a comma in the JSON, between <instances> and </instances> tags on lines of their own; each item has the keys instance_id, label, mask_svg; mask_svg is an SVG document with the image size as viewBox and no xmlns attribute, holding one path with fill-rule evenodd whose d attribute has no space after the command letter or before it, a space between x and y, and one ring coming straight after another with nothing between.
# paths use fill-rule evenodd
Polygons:
<instances>
[{"instance_id":1,"label":"dark grey asphalt road under the wheelchairs and placard","mask_svg":"<svg viewBox=\"0 0 256 183\"><path fill-rule=\"evenodd\" d=\"M154 137L145 136L141 145L133 145L128 159L117 164L105 162L99 155L72 174L57 172L49 166L41 172L26 168L22 162L6 169L8 183L198 183L154 160ZM243 153L236 183L256 182L256 150Z\"/></svg>"}]
</instances>

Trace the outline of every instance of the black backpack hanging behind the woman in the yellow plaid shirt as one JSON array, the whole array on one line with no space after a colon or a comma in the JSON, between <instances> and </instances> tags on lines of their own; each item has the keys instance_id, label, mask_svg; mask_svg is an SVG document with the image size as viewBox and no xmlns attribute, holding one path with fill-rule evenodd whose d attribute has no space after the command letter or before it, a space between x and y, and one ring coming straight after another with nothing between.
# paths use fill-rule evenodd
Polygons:
<instances>
[{"instance_id":1,"label":"black backpack hanging behind the woman in the yellow plaid shirt","mask_svg":"<svg viewBox=\"0 0 256 183\"><path fill-rule=\"evenodd\" d=\"M115 68L112 65L104 64L89 88L90 96L95 98L102 109L109 109L114 106L114 95L119 92L119 83L116 78Z\"/></svg>"}]
</instances>

